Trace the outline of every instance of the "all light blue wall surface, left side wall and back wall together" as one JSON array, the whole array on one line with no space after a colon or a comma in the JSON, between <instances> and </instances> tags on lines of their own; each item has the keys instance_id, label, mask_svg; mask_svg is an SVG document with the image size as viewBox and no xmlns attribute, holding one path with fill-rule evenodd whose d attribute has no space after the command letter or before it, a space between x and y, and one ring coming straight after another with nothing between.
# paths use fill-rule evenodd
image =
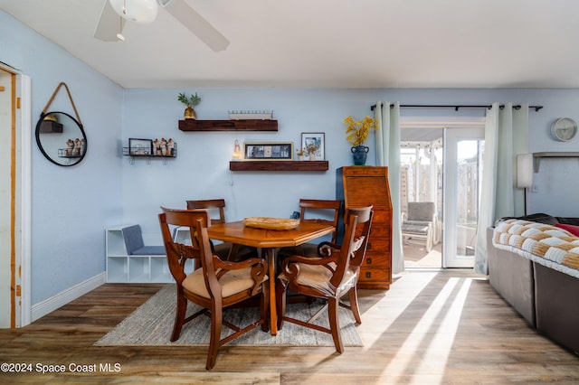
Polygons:
<instances>
[{"instance_id":1,"label":"all light blue wall surface, left side wall and back wall together","mask_svg":"<svg viewBox=\"0 0 579 385\"><path fill-rule=\"evenodd\" d=\"M33 294L38 303L105 270L104 229L136 222L158 233L159 206L184 208L187 199L223 197L229 220L246 216L288 217L299 197L332 198L335 169L351 164L342 119L371 114L378 99L403 104L489 104L493 101L543 105L529 118L530 149L579 151L579 137L555 142L549 127L557 117L579 120L577 89L121 89L60 47L0 11L0 61L32 78L33 120L60 81L71 88L88 136L84 161L58 167L33 144ZM228 110L273 110L277 133L181 132L184 107L179 92L199 92L200 119L226 119ZM71 113L65 93L52 108ZM483 116L484 110L403 109L407 116ZM326 133L326 173L230 173L233 141L292 141L301 132ZM128 163L121 147L128 138L171 137L176 159L166 165ZM367 143L373 148L374 136ZM371 150L368 164L375 164ZM541 164L538 192L529 212L579 216L579 161Z\"/></svg>"}]
</instances>

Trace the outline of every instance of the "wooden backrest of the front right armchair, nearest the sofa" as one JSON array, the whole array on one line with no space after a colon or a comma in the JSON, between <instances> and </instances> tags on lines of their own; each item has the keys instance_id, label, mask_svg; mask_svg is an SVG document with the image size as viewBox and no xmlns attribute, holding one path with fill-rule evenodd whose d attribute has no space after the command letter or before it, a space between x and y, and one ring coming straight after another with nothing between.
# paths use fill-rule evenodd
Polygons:
<instances>
[{"instance_id":1,"label":"wooden backrest of the front right armchair, nearest the sofa","mask_svg":"<svg viewBox=\"0 0 579 385\"><path fill-rule=\"evenodd\" d=\"M350 266L359 268L362 264L365 258L365 249L368 244L368 235L372 225L373 214L372 206L350 208L346 211L346 230L337 258L336 270L330 278L330 284L332 286L337 287L340 285L346 274L346 270ZM363 231L367 231L363 239L359 236L356 237L356 229L359 225L363 226Z\"/></svg>"}]
</instances>

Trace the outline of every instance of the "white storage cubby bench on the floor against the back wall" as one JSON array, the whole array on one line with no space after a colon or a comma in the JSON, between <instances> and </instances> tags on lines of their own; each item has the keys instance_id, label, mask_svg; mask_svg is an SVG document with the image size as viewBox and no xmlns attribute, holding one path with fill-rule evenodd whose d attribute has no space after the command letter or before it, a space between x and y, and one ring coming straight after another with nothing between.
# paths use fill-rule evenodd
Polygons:
<instances>
[{"instance_id":1,"label":"white storage cubby bench on the floor against the back wall","mask_svg":"<svg viewBox=\"0 0 579 385\"><path fill-rule=\"evenodd\" d=\"M128 255L123 239L122 230L131 225L119 225L106 230L106 250L107 250L107 282L114 283L169 283L175 282L169 267L166 263L165 255ZM188 230L176 230L176 236L188 244L191 244ZM149 245L155 241L152 234L143 234L145 244ZM162 244L162 240L157 236L157 244ZM185 272L193 271L193 261L187 260Z\"/></svg>"}]
</instances>

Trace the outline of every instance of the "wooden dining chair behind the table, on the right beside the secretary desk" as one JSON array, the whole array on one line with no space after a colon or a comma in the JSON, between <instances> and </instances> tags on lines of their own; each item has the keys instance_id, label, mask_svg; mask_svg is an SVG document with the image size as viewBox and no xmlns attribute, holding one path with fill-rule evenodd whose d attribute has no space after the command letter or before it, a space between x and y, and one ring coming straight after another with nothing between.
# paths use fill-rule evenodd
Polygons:
<instances>
[{"instance_id":1,"label":"wooden dining chair behind the table, on the right beside the secretary desk","mask_svg":"<svg viewBox=\"0 0 579 385\"><path fill-rule=\"evenodd\" d=\"M325 221L334 226L334 233L331 241L336 243L337 238L337 221L340 214L341 201L318 200L318 199L300 199L299 200L299 221ZM319 217L323 216L324 219ZM318 256L317 243L304 243L291 248L282 248L278 250L278 258L281 261L283 258L290 255L301 255L306 257Z\"/></svg>"}]
</instances>

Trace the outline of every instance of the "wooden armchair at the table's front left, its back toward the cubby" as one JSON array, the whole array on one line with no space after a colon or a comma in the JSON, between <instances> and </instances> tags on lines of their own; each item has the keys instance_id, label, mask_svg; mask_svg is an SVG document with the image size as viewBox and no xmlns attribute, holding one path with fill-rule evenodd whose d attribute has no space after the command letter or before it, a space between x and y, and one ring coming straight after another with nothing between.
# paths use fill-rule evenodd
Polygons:
<instances>
[{"instance_id":1,"label":"wooden armchair at the table's front left, its back toward the cubby","mask_svg":"<svg viewBox=\"0 0 579 385\"><path fill-rule=\"evenodd\" d=\"M161 208L159 223L166 249L169 270L176 280L176 315L171 342L179 338L183 325L199 315L211 316L211 336L207 353L207 370L214 367L217 351L240 335L261 325L269 330L269 296L267 264L261 258L248 258L242 262L223 261L211 251L207 228L211 225L209 214L204 210L172 210ZM176 243L169 226L188 227L192 246ZM198 258L201 268L185 274L185 260ZM261 317L258 321L240 328L223 321L223 308L238 304L253 296L260 296ZM187 301L203 309L185 318ZM221 338L222 325L234 333Z\"/></svg>"}]
</instances>

